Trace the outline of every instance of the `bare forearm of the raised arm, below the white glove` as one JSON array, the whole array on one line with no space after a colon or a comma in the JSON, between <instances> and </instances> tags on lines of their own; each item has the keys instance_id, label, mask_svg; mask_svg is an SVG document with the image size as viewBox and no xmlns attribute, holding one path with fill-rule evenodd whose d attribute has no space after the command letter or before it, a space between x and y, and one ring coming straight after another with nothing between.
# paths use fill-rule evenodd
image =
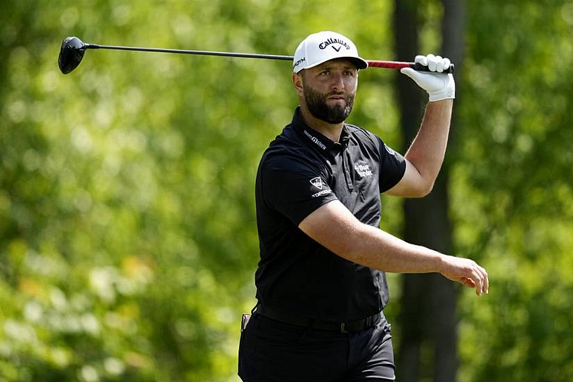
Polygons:
<instances>
[{"instance_id":1,"label":"bare forearm of the raised arm, below the white glove","mask_svg":"<svg viewBox=\"0 0 573 382\"><path fill-rule=\"evenodd\" d=\"M428 184L433 185L444 162L452 107L453 99L428 103L420 130L405 155Z\"/></svg>"}]
</instances>

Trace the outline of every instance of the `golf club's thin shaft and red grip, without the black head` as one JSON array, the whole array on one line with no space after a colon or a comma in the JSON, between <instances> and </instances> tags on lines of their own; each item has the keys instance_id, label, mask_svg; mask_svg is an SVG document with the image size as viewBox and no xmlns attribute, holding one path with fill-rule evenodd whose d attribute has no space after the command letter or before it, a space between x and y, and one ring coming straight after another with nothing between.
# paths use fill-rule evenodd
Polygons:
<instances>
[{"instance_id":1,"label":"golf club's thin shaft and red grip, without the black head","mask_svg":"<svg viewBox=\"0 0 573 382\"><path fill-rule=\"evenodd\" d=\"M163 49L163 48L143 48L143 47L118 47L115 45L99 45L99 44L86 44L84 49L113 49L120 51L153 51L159 53L179 53L179 54L196 54L199 56L223 56L223 57L242 57L242 58L264 58L266 60L286 60L292 61L293 56L279 56L275 54L258 54L258 53L236 53L226 51L190 51L186 49ZM403 67L411 67L412 69L422 72L428 72L427 67L417 65L414 63L407 63L404 61L385 61L385 60L369 60L369 67L381 67L385 69L402 69ZM453 65L447 71L453 73Z\"/></svg>"}]
</instances>

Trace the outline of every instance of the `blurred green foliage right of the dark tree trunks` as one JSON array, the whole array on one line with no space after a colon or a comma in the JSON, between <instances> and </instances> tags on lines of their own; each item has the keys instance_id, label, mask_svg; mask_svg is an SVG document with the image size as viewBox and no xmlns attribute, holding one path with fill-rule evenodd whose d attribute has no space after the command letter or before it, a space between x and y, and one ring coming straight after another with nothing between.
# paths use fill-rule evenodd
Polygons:
<instances>
[{"instance_id":1,"label":"blurred green foliage right of the dark tree trunks","mask_svg":"<svg viewBox=\"0 0 573 382\"><path fill-rule=\"evenodd\" d=\"M571 381L573 2L469 4L453 212L492 285L462 299L460 381Z\"/></svg>"}]
</instances>

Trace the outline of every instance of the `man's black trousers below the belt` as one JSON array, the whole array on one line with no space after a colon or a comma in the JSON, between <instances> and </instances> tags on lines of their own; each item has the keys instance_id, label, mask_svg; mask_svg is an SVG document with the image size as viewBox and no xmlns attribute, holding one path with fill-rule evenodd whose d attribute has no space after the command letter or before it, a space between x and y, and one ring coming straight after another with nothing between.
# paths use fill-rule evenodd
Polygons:
<instances>
[{"instance_id":1,"label":"man's black trousers below the belt","mask_svg":"<svg viewBox=\"0 0 573 382\"><path fill-rule=\"evenodd\" d=\"M394 381L390 324L355 333L308 329L253 315L241 333L244 382Z\"/></svg>"}]
</instances>

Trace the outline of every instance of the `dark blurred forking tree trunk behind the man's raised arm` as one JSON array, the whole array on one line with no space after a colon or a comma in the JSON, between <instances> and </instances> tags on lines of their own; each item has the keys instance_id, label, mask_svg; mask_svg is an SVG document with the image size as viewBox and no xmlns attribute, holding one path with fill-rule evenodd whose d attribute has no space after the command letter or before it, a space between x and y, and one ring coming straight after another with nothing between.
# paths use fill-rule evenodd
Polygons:
<instances>
[{"instance_id":1,"label":"dark blurred forking tree trunk behind the man's raised arm","mask_svg":"<svg viewBox=\"0 0 573 382\"><path fill-rule=\"evenodd\" d=\"M451 58L460 73L463 53L464 3L443 0L442 56ZM419 54L417 1L396 0L394 28L398 60L412 60ZM398 101L403 129L403 144L408 147L417 133L426 95L405 76L397 81ZM459 88L457 90L459 94ZM423 96L423 99L422 99ZM455 115L452 119L455 125ZM434 189L423 199L404 203L404 238L442 253L451 254L451 224L448 198L449 160L444 162ZM400 381L414 382L433 377L436 382L455 381L458 369L457 285L439 274L403 276L401 301L401 341L397 364ZM423 351L422 351L423 349ZM426 349L429 350L428 356Z\"/></svg>"}]
</instances>

